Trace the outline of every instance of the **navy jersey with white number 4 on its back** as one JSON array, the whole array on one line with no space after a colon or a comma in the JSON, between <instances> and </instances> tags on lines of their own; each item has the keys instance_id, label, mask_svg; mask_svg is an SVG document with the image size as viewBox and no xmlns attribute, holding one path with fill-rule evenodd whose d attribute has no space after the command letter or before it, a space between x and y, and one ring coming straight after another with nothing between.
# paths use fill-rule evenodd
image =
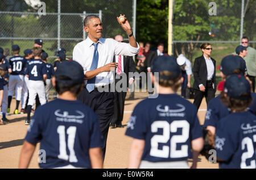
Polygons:
<instances>
[{"instance_id":1,"label":"navy jersey with white number 4 on its back","mask_svg":"<svg viewBox=\"0 0 256 180\"><path fill-rule=\"evenodd\" d=\"M40 59L34 59L27 63L26 74L28 79L43 81L43 74L47 74L46 63Z\"/></svg>"}]
</instances>

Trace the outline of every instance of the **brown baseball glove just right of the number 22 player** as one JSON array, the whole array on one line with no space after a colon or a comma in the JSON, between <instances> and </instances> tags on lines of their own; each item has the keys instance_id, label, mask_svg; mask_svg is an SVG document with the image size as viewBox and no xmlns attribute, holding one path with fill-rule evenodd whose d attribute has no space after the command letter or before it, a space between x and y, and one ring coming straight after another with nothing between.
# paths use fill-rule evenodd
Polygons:
<instances>
[{"instance_id":1,"label":"brown baseball glove just right of the number 22 player","mask_svg":"<svg viewBox=\"0 0 256 180\"><path fill-rule=\"evenodd\" d=\"M209 154L209 150L214 149L214 136L212 132L207 130L205 127L202 128L202 131L204 137L204 147L201 150L200 154L208 160L211 156L211 154Z\"/></svg>"}]
</instances>

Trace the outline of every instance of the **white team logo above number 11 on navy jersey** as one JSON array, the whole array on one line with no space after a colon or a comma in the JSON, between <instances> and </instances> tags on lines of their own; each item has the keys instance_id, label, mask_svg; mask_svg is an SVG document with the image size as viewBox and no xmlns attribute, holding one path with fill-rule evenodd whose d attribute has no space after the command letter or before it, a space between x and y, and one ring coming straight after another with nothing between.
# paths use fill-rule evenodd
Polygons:
<instances>
[{"instance_id":1,"label":"white team logo above number 11 on navy jersey","mask_svg":"<svg viewBox=\"0 0 256 180\"><path fill-rule=\"evenodd\" d=\"M61 110L56 110L54 114L57 116L56 120L61 122L75 122L82 123L82 118L85 117L84 113L79 110L76 110L76 115L69 115L68 111L63 111L61 114Z\"/></svg>"}]
</instances>

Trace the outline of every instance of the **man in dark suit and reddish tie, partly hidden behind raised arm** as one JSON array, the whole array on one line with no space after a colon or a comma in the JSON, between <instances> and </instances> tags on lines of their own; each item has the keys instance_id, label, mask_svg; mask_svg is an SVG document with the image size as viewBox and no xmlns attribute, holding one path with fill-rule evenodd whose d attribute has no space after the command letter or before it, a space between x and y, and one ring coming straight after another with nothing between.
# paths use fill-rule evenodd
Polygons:
<instances>
[{"instance_id":1,"label":"man in dark suit and reddish tie, partly hidden behind raised arm","mask_svg":"<svg viewBox=\"0 0 256 180\"><path fill-rule=\"evenodd\" d=\"M122 42L123 37L117 35L115 36L115 40ZM114 92L114 115L110 123L110 128L120 128L122 127L123 111L125 107L126 87L131 86L134 82L134 77L129 77L129 72L135 72L135 64L132 56L114 56L113 62L118 62L118 67L114 74L115 85L118 83L118 86L115 87ZM122 83L119 81L122 81ZM126 83L126 87L123 83ZM119 85L121 85L122 91L116 89Z\"/></svg>"}]
</instances>

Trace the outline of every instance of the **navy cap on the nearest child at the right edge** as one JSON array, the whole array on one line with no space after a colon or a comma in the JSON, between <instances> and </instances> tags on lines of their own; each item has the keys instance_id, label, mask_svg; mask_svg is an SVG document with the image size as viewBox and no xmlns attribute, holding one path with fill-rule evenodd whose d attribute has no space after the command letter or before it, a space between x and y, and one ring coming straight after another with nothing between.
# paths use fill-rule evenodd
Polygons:
<instances>
[{"instance_id":1,"label":"navy cap on the nearest child at the right edge","mask_svg":"<svg viewBox=\"0 0 256 180\"><path fill-rule=\"evenodd\" d=\"M224 92L230 98L245 100L251 94L251 86L241 74L232 74L224 83ZM248 95L243 95L244 93L248 93Z\"/></svg>"}]
</instances>

